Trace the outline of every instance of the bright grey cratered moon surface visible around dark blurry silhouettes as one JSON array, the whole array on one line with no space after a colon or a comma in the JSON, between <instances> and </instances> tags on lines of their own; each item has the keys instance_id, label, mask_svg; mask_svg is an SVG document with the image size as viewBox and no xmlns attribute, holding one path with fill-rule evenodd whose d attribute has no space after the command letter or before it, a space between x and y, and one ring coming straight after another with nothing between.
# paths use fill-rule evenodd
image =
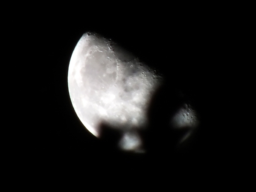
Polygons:
<instances>
[{"instance_id":1,"label":"bright grey cratered moon surface visible around dark blurry silhouettes","mask_svg":"<svg viewBox=\"0 0 256 192\"><path fill-rule=\"evenodd\" d=\"M162 83L148 65L95 33L81 37L70 59L68 88L77 116L96 137L102 123L119 131L117 145L124 151L145 151L138 131L148 127L149 104ZM170 117L173 128L195 128L195 113L189 106L180 108Z\"/></svg>"}]
</instances>

